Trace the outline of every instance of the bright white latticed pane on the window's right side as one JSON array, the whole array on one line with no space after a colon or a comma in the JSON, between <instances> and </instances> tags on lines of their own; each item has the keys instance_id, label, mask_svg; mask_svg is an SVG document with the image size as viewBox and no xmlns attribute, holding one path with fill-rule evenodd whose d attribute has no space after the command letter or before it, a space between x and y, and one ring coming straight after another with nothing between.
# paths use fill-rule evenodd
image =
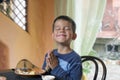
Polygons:
<instances>
[{"instance_id":1,"label":"bright white latticed pane on the window's right side","mask_svg":"<svg viewBox=\"0 0 120 80\"><path fill-rule=\"evenodd\" d=\"M13 20L24 30L26 30L26 0L12 1L12 17Z\"/></svg>"}]
</instances>

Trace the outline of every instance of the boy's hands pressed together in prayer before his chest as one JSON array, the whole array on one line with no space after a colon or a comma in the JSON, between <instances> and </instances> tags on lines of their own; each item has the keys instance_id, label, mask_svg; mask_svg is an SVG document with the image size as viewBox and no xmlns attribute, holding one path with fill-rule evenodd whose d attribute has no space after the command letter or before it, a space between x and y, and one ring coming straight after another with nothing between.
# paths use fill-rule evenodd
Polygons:
<instances>
[{"instance_id":1,"label":"boy's hands pressed together in prayer before his chest","mask_svg":"<svg viewBox=\"0 0 120 80\"><path fill-rule=\"evenodd\" d=\"M58 58L53 54L52 51L48 52L46 61L47 61L47 66L51 69L54 69L58 65Z\"/></svg>"}]
</instances>

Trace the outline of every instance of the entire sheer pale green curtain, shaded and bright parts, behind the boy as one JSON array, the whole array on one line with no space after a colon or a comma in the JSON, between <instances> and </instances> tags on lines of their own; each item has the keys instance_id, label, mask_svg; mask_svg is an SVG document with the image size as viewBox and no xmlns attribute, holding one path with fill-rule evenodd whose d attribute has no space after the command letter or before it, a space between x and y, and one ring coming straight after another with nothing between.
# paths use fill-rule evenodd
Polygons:
<instances>
[{"instance_id":1,"label":"entire sheer pale green curtain, shaded and bright parts, behind the boy","mask_svg":"<svg viewBox=\"0 0 120 80\"><path fill-rule=\"evenodd\" d=\"M106 0L55 0L56 16L68 15L77 25L73 49L80 55L92 51L106 6Z\"/></svg>"}]
</instances>

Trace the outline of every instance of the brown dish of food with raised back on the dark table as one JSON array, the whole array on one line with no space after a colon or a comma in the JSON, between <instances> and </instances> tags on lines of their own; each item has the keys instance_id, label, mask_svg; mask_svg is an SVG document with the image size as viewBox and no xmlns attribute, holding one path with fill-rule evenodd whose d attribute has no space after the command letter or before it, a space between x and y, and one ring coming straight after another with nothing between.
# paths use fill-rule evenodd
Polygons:
<instances>
[{"instance_id":1,"label":"brown dish of food with raised back on the dark table","mask_svg":"<svg viewBox=\"0 0 120 80\"><path fill-rule=\"evenodd\" d=\"M22 59L18 62L15 73L18 75L34 76L41 75L44 71L32 64L29 60Z\"/></svg>"}]
</instances>

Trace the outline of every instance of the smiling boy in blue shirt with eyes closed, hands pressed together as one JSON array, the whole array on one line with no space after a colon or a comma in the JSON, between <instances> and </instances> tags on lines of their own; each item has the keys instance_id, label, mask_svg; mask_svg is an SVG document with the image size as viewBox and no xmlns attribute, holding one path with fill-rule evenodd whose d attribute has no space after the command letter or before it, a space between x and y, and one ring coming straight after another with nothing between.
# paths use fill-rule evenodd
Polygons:
<instances>
[{"instance_id":1,"label":"smiling boy in blue shirt with eyes closed, hands pressed together","mask_svg":"<svg viewBox=\"0 0 120 80\"><path fill-rule=\"evenodd\" d=\"M76 38L75 29L75 22L68 16L59 16L53 22L52 37L57 48L46 54L43 69L49 70L55 80L81 80L81 58L70 47Z\"/></svg>"}]
</instances>

